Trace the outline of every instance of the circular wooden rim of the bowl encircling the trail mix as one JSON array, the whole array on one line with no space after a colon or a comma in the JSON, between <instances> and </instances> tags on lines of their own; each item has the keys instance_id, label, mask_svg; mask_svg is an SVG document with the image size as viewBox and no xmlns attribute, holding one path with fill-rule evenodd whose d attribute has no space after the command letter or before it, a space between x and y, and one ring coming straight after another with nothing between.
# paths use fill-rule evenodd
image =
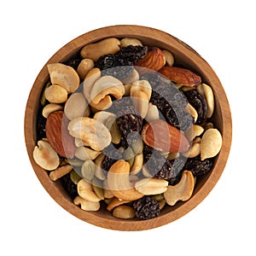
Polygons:
<instances>
[{"instance_id":1,"label":"circular wooden rim of the bowl encircling the trail mix","mask_svg":"<svg viewBox=\"0 0 256 256\"><path fill-rule=\"evenodd\" d=\"M138 31L140 32L138 36ZM118 218L103 218L101 215L95 212L85 212L79 207L73 204L73 201L60 195L58 187L56 187L55 182L49 179L49 175L44 171L43 168L38 166L32 157L32 150L37 144L36 134L35 134L35 113L38 112L37 106L38 97L41 95L43 86L45 84L45 79L49 77L47 72L47 64L59 61L64 61L63 58L68 58L68 56L73 55L74 51L81 49L85 44L94 43L103 38L124 38L124 37L137 37L137 38L147 38L153 41L159 41L160 44L170 45L172 48L177 49L181 55L186 55L191 61L192 65L196 64L196 67L200 69L200 73L205 74L207 77L211 78L211 84L214 83L214 95L216 98L221 99L219 101L220 114L222 121L222 136L223 136L223 147L218 154L218 168L217 165L213 167L212 172L207 178L207 183L204 183L201 189L183 204L176 207L171 212L160 215L158 218L151 218L148 220L123 220ZM158 45L160 46L160 45ZM68 54L67 54L68 53ZM70 55L69 55L70 54ZM64 57L63 57L64 56ZM205 61L201 55L199 55L195 49L192 49L188 44L183 43L178 38L173 37L171 34L160 31L148 26L137 26L137 25L116 25L116 26L105 26L92 30L90 32L85 32L78 38L74 38L69 43L65 44L61 49L56 51L55 55L52 55L38 73L38 77L35 79L32 89L27 99L26 103L26 113L24 119L24 134L26 142L26 150L28 157L31 161L32 168L36 173L40 183L44 186L44 189L49 193L49 195L67 212L70 212L75 217L82 219L83 221L94 224L96 226L110 229L110 230L149 230L160 227L164 224L169 224L177 218L183 217L183 215L190 212L197 205L203 201L207 195L211 192L215 184L218 182L219 177L224 172L224 166L228 160L231 147L232 139L232 121L230 113L230 105L228 99L225 95L224 88L220 83L216 73L212 70L212 67ZM44 172L42 172L42 170ZM82 211L82 213L81 213Z\"/></svg>"}]
</instances>

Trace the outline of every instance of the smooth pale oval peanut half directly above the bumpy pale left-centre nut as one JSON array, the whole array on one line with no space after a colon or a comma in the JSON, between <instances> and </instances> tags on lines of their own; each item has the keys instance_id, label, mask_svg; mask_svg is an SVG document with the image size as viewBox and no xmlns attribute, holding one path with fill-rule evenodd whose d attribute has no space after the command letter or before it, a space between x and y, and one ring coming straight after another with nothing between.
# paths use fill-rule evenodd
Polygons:
<instances>
[{"instance_id":1,"label":"smooth pale oval peanut half directly above the bumpy pale left-centre nut","mask_svg":"<svg viewBox=\"0 0 256 256\"><path fill-rule=\"evenodd\" d=\"M67 119L75 119L77 117L89 116L90 108L86 102L84 95L80 92L73 93L68 99L64 107L64 113Z\"/></svg>"}]
</instances>

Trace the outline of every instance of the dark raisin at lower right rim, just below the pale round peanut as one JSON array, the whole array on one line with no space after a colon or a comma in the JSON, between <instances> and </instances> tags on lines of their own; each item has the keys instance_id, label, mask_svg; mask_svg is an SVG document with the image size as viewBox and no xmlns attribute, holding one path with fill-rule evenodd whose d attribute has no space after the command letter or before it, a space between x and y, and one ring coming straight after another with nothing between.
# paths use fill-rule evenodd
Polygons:
<instances>
[{"instance_id":1,"label":"dark raisin at lower right rim, just below the pale round peanut","mask_svg":"<svg viewBox=\"0 0 256 256\"><path fill-rule=\"evenodd\" d=\"M199 176L211 171L213 163L213 158L201 160L199 155L195 158L189 158L184 166L184 169L191 171L194 176Z\"/></svg>"}]
</instances>

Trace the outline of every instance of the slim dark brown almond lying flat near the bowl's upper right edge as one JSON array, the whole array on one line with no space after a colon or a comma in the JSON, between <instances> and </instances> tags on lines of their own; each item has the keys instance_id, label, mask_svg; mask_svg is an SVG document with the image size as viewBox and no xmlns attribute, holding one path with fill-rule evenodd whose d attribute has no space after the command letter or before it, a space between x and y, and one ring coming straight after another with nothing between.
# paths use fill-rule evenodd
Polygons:
<instances>
[{"instance_id":1,"label":"slim dark brown almond lying flat near the bowl's upper right edge","mask_svg":"<svg viewBox=\"0 0 256 256\"><path fill-rule=\"evenodd\" d=\"M186 68L181 67L163 67L159 71L166 76L167 79L172 80L177 84L183 84L186 86L194 86L201 84L201 77Z\"/></svg>"}]
</instances>

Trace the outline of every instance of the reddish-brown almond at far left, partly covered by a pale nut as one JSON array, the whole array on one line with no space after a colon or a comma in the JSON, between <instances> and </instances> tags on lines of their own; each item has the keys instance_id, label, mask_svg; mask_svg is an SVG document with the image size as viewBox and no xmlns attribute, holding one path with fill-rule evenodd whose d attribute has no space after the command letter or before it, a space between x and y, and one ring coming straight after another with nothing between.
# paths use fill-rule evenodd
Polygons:
<instances>
[{"instance_id":1,"label":"reddish-brown almond at far left, partly covered by a pale nut","mask_svg":"<svg viewBox=\"0 0 256 256\"><path fill-rule=\"evenodd\" d=\"M68 119L63 111L56 111L49 114L46 120L46 137L55 152L63 157L73 158L75 154L74 138L67 130Z\"/></svg>"}]
</instances>

